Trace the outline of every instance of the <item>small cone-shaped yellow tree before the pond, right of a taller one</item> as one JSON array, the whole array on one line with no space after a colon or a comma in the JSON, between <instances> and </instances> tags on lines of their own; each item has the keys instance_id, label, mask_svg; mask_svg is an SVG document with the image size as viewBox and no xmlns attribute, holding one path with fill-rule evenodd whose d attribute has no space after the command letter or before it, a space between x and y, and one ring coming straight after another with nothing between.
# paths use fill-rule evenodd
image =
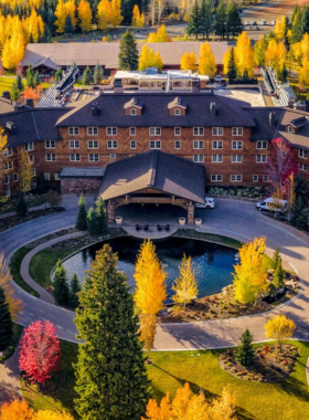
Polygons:
<instances>
[{"instance_id":1,"label":"small cone-shaped yellow tree before the pond, right of a taller one","mask_svg":"<svg viewBox=\"0 0 309 420\"><path fill-rule=\"evenodd\" d=\"M191 256L183 255L180 267L180 276L175 279L172 290L175 294L172 296L173 302L185 305L198 296L199 290L195 280L194 269Z\"/></svg>"}]
</instances>

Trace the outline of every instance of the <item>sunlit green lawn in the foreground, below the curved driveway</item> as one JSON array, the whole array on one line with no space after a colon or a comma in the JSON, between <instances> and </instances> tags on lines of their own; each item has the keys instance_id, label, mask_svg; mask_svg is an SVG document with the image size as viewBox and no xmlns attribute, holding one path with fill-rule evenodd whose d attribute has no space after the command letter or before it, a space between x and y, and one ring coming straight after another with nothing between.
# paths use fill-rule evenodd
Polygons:
<instances>
[{"instance_id":1,"label":"sunlit green lawn in the foreground, below the curved driveway","mask_svg":"<svg viewBox=\"0 0 309 420\"><path fill-rule=\"evenodd\" d=\"M151 353L153 364L148 366L152 397L160 400L169 391L171 399L178 388L189 382L193 392L203 389L206 397L219 396L227 386L236 398L239 420L307 419L309 389L306 381L306 361L309 343L290 342L300 357L294 372L280 384L256 384L237 379L219 366L217 357L224 350L158 351ZM23 386L23 396L35 409L67 409L74 414L75 397L72 363L76 361L77 345L61 342L62 370L51 380L49 395ZM75 414L76 416L76 414Z\"/></svg>"}]
</instances>

